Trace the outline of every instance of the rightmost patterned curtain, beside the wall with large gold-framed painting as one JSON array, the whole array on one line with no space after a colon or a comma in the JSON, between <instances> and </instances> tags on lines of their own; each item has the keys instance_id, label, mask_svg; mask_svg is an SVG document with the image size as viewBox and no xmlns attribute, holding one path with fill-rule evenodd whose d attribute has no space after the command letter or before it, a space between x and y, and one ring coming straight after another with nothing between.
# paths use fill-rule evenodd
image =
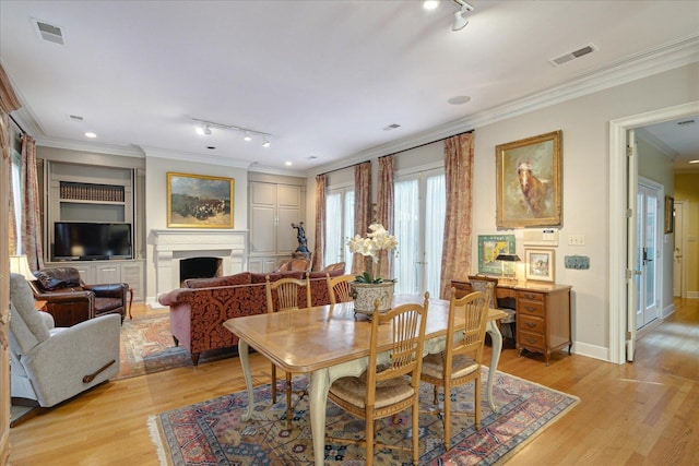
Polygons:
<instances>
[{"instance_id":1,"label":"rightmost patterned curtain, beside the wall with large gold-framed painting","mask_svg":"<svg viewBox=\"0 0 699 466\"><path fill-rule=\"evenodd\" d=\"M441 261L440 298L449 299L450 280L465 278L471 270L474 133L445 140L447 215Z\"/></svg>"}]
</instances>

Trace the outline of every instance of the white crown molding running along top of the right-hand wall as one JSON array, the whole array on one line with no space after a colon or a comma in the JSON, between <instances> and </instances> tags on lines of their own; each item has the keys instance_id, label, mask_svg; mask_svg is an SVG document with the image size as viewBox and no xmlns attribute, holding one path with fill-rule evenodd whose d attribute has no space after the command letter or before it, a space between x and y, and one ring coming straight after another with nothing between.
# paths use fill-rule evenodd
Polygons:
<instances>
[{"instance_id":1,"label":"white crown molding running along top of the right-hand wall","mask_svg":"<svg viewBox=\"0 0 699 466\"><path fill-rule=\"evenodd\" d=\"M567 82L530 94L499 106L450 121L431 130L363 151L340 162L315 167L307 171L315 176L345 168L371 158L406 151L471 131L474 128L525 115L609 87L626 84L675 68L699 62L699 35L666 44L578 74Z\"/></svg>"}]
</instances>

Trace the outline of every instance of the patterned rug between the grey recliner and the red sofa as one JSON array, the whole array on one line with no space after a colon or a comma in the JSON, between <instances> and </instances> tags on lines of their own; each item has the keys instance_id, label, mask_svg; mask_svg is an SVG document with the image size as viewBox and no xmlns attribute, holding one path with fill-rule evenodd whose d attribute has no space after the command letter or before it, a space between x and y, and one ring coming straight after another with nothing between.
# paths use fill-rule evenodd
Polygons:
<instances>
[{"instance_id":1,"label":"patterned rug between the grey recliner and the red sofa","mask_svg":"<svg viewBox=\"0 0 699 466\"><path fill-rule=\"evenodd\" d=\"M125 320L121 325L121 363L119 374L112 380L192 366L187 348L175 346L169 325L167 314ZM236 348L206 351L201 355L199 363L236 355Z\"/></svg>"}]
</instances>

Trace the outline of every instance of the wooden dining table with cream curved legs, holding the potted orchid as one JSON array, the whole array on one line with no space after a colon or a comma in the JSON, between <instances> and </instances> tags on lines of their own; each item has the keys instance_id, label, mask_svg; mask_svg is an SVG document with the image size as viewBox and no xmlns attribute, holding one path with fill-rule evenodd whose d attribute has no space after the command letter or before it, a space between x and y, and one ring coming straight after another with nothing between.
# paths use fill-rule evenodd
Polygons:
<instances>
[{"instance_id":1,"label":"wooden dining table with cream curved legs, holding the potted orchid","mask_svg":"<svg viewBox=\"0 0 699 466\"><path fill-rule=\"evenodd\" d=\"M422 304L424 298L417 295L395 295L393 298L394 307L408 302ZM449 301L429 300L425 355L439 353L445 348L448 316ZM493 401L493 380L502 348L502 335L496 322L503 316L506 313L500 310L488 310L487 332L493 340L493 354L487 399L493 410L497 410ZM457 328L459 325L463 326L463 322L457 320ZM343 302L229 319L224 326L239 337L238 354L248 391L248 409L242 416L244 420L252 417L254 408L249 347L285 371L310 373L309 410L313 458L317 466L322 466L328 391L333 381L342 377L360 375L366 370L371 334L369 316L355 314L353 302ZM379 349L388 349L389 326L379 330Z\"/></svg>"}]
</instances>

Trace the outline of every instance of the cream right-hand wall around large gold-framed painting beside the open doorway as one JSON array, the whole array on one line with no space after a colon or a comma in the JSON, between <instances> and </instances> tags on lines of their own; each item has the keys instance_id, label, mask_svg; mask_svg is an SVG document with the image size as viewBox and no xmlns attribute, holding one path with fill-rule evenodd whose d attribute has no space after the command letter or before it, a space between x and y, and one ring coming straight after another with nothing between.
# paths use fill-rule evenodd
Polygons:
<instances>
[{"instance_id":1,"label":"cream right-hand wall around large gold-framed painting beside the open doorway","mask_svg":"<svg viewBox=\"0 0 699 466\"><path fill-rule=\"evenodd\" d=\"M578 354L608 360L609 312L619 312L611 309L608 285L609 121L699 100L698 82L699 64L694 63L475 129L473 248L478 235L511 231L496 227L495 146L562 130L562 226L555 250L556 282L572 286L572 337ZM396 167L407 159L418 160L422 150L399 154ZM309 192L313 186L311 177ZM308 212L313 211L309 200ZM518 253L523 253L521 231L514 234ZM584 235L585 244L568 246L569 235ZM564 256L573 254L588 255L590 268L565 268ZM474 261L472 272L476 270Z\"/></svg>"}]
</instances>

